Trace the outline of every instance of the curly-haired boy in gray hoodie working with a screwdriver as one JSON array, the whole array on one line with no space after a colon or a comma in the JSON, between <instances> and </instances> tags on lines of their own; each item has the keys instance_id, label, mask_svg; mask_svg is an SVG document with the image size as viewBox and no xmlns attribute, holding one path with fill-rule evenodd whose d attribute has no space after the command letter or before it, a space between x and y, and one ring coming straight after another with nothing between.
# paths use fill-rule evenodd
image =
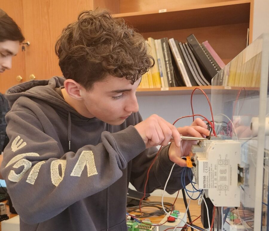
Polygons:
<instances>
[{"instance_id":1,"label":"curly-haired boy in gray hoodie working with a screwdriver","mask_svg":"<svg viewBox=\"0 0 269 231\"><path fill-rule=\"evenodd\" d=\"M182 188L181 159L191 143L180 134L209 135L196 119L175 128L138 112L135 91L152 66L143 37L106 11L84 11L56 42L63 76L7 91L10 143L3 175L20 230L127 230L129 182L143 192ZM171 136L175 142L168 145ZM189 182L186 178L186 182Z\"/></svg>"}]
</instances>

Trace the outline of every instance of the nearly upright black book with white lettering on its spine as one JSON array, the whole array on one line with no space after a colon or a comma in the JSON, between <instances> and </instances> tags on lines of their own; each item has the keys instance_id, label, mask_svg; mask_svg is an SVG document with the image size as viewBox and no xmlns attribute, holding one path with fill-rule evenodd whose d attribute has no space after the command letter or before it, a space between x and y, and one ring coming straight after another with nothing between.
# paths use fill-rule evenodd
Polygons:
<instances>
[{"instance_id":1,"label":"nearly upright black book with white lettering on its spine","mask_svg":"<svg viewBox=\"0 0 269 231\"><path fill-rule=\"evenodd\" d=\"M166 68L168 86L175 87L175 77L174 77L174 71L173 71L173 66L172 66L171 54L170 54L169 45L168 45L168 39L162 38L161 44L162 44L162 49L163 49L164 62L166 65L165 68Z\"/></svg>"}]
</instances>

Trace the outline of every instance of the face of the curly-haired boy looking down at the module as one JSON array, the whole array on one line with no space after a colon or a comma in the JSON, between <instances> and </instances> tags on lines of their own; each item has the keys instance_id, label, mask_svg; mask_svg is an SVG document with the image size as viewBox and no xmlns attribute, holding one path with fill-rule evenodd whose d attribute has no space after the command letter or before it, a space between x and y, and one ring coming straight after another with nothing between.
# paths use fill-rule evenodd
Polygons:
<instances>
[{"instance_id":1,"label":"face of the curly-haired boy looking down at the module","mask_svg":"<svg viewBox=\"0 0 269 231\"><path fill-rule=\"evenodd\" d=\"M138 111L135 96L138 79L133 85L130 80L108 76L95 82L91 91L80 90L87 117L96 117L111 125L122 124L132 112Z\"/></svg>"}]
</instances>

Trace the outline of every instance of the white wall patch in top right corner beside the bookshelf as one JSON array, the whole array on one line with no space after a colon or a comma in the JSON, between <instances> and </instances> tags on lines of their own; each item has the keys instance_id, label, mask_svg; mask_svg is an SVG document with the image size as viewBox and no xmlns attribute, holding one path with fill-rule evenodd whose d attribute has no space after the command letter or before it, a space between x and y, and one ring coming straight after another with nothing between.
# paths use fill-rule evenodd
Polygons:
<instances>
[{"instance_id":1,"label":"white wall patch in top right corner beside the bookshelf","mask_svg":"<svg viewBox=\"0 0 269 231\"><path fill-rule=\"evenodd\" d=\"M269 33L269 0L254 0L253 41L262 33Z\"/></svg>"}]
</instances>

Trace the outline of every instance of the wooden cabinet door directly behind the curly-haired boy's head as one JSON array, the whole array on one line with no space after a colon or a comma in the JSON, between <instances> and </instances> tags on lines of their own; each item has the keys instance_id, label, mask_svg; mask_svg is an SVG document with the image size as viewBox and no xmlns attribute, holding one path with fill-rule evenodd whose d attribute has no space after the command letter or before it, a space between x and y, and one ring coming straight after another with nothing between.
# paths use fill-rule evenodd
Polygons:
<instances>
[{"instance_id":1,"label":"wooden cabinet door directly behind the curly-haired boy's head","mask_svg":"<svg viewBox=\"0 0 269 231\"><path fill-rule=\"evenodd\" d=\"M1 0L2 1L2 0ZM77 19L82 10L93 9L93 1L85 0L22 0L25 24L26 80L62 76L55 54L55 42L62 29Z\"/></svg>"}]
</instances>

